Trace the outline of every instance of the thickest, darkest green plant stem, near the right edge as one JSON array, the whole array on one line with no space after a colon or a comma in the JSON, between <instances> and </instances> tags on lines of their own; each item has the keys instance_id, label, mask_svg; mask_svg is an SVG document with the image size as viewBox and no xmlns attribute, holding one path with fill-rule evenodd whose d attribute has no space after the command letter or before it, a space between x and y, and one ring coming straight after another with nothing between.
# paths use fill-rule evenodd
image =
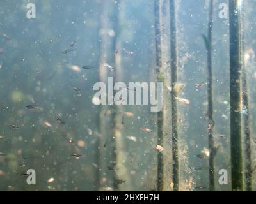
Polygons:
<instances>
[{"instance_id":1,"label":"thickest, darkest green plant stem, near the right edge","mask_svg":"<svg viewBox=\"0 0 256 204\"><path fill-rule=\"evenodd\" d=\"M238 0L229 1L230 20L230 143L232 190L243 191L241 138L241 19Z\"/></svg>"}]
</instances>

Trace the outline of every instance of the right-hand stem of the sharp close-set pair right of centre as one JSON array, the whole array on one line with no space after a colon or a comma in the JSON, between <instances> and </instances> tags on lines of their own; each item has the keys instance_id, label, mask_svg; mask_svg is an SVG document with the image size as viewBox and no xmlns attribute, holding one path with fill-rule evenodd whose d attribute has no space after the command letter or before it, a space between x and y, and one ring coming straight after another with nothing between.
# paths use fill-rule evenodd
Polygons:
<instances>
[{"instance_id":1,"label":"right-hand stem of the sharp close-set pair right of centre","mask_svg":"<svg viewBox=\"0 0 256 204\"><path fill-rule=\"evenodd\" d=\"M175 84L177 82L177 36L176 36L176 12L175 0L170 0L170 49L171 49L171 102L172 102L172 156L174 183L173 190L179 191L179 135L177 124L177 100L175 99Z\"/></svg>"}]
</instances>

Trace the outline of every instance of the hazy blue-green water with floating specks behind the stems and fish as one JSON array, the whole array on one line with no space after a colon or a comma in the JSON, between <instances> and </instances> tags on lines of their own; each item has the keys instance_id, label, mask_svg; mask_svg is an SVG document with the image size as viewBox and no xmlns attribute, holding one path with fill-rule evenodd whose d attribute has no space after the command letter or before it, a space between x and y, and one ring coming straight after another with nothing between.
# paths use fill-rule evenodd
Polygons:
<instances>
[{"instance_id":1,"label":"hazy blue-green water with floating specks behind the stems and fish","mask_svg":"<svg viewBox=\"0 0 256 204\"><path fill-rule=\"evenodd\" d=\"M163 2L168 5L168 1ZM35 19L26 17L28 3L36 5ZM214 1L212 31L214 142L218 147L214 168L216 191L229 191L229 27L228 19L218 17L221 3L228 5L228 1ZM118 154L112 132L115 114L111 106L104 107L104 131L100 131L102 108L92 103L93 85L100 81L102 53L113 66L115 52L121 53L122 82L155 81L154 1L118 1L118 25L115 4L111 0L0 2L0 191L115 190L116 173L119 190L157 189L156 113L150 112L149 105L122 106L123 140L118 149L122 152L122 165L118 168L113 160L113 154ZM256 1L244 2L252 138L256 128L255 6ZM167 8L163 9L166 13ZM177 1L178 81L185 85L180 96L190 101L189 105L178 105L181 191L209 190L207 87L195 87L207 82L207 52L202 34L207 33L208 11L209 1ZM166 17L164 24L168 24ZM104 19L106 27L102 25ZM168 38L169 32L167 28L163 37ZM120 50L113 49L117 37ZM61 53L70 48L71 52ZM166 59L170 58L169 52L166 48ZM93 68L83 69L83 66ZM168 68L167 61L164 66ZM113 77L109 71L106 75ZM76 87L80 91L74 90ZM36 108L29 109L28 105ZM166 126L170 128L170 124ZM145 127L152 133L143 131ZM172 190L170 135L170 131L164 135L166 191ZM72 156L74 153L81 157ZM254 153L252 140L253 162ZM191 170L196 167L200 170ZM21 175L28 169L36 171L36 185L28 185L26 175ZM218 184L220 169L227 169L228 185ZM255 189L255 177L252 180Z\"/></svg>"}]
</instances>

